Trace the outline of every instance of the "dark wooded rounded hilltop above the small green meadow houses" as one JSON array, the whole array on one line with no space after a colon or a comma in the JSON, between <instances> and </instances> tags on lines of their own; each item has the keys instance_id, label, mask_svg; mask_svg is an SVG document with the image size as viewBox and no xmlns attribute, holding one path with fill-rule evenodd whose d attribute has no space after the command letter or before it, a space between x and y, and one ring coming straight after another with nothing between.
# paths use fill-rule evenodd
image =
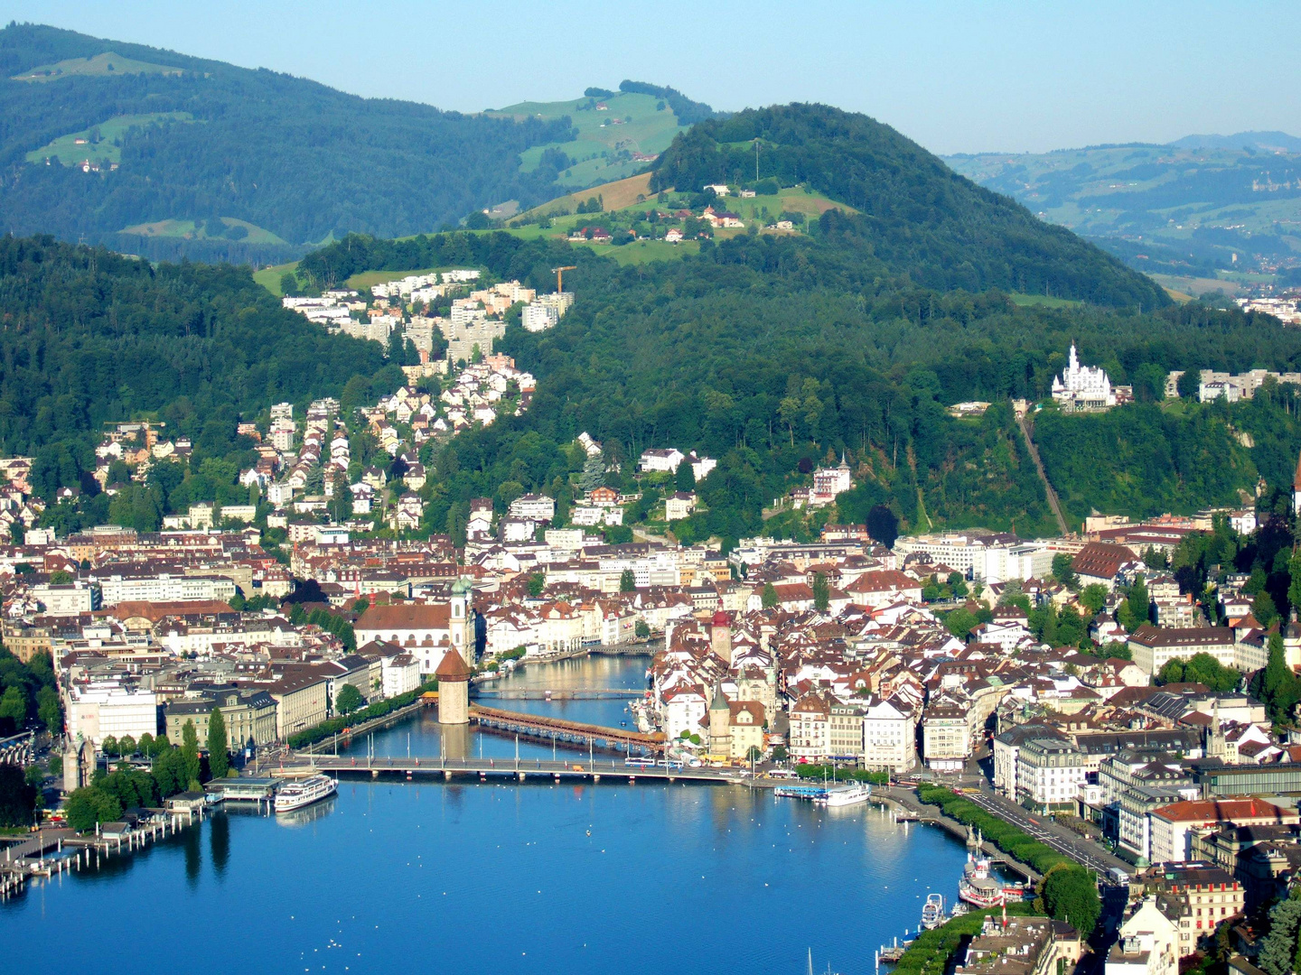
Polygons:
<instances>
[{"instance_id":1,"label":"dark wooded rounded hilltop above the small green meadow houses","mask_svg":"<svg viewBox=\"0 0 1301 975\"><path fill-rule=\"evenodd\" d=\"M699 122L660 157L652 188L768 177L807 182L857 209L840 228L846 242L925 287L1002 287L1118 307L1170 303L1149 278L958 176L890 126L826 105Z\"/></svg>"}]
</instances>

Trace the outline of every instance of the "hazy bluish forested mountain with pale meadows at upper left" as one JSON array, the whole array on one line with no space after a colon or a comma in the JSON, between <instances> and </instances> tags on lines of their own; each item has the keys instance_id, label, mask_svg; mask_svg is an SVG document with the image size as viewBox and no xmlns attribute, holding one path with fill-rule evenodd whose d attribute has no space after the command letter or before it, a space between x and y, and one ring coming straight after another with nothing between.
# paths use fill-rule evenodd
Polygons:
<instances>
[{"instance_id":1,"label":"hazy bluish forested mountain with pale meadows at upper left","mask_svg":"<svg viewBox=\"0 0 1301 975\"><path fill-rule=\"evenodd\" d=\"M567 118L464 116L53 27L0 31L0 231L285 259L330 234L550 199L554 160L524 173L519 156L569 134Z\"/></svg>"}]
</instances>

